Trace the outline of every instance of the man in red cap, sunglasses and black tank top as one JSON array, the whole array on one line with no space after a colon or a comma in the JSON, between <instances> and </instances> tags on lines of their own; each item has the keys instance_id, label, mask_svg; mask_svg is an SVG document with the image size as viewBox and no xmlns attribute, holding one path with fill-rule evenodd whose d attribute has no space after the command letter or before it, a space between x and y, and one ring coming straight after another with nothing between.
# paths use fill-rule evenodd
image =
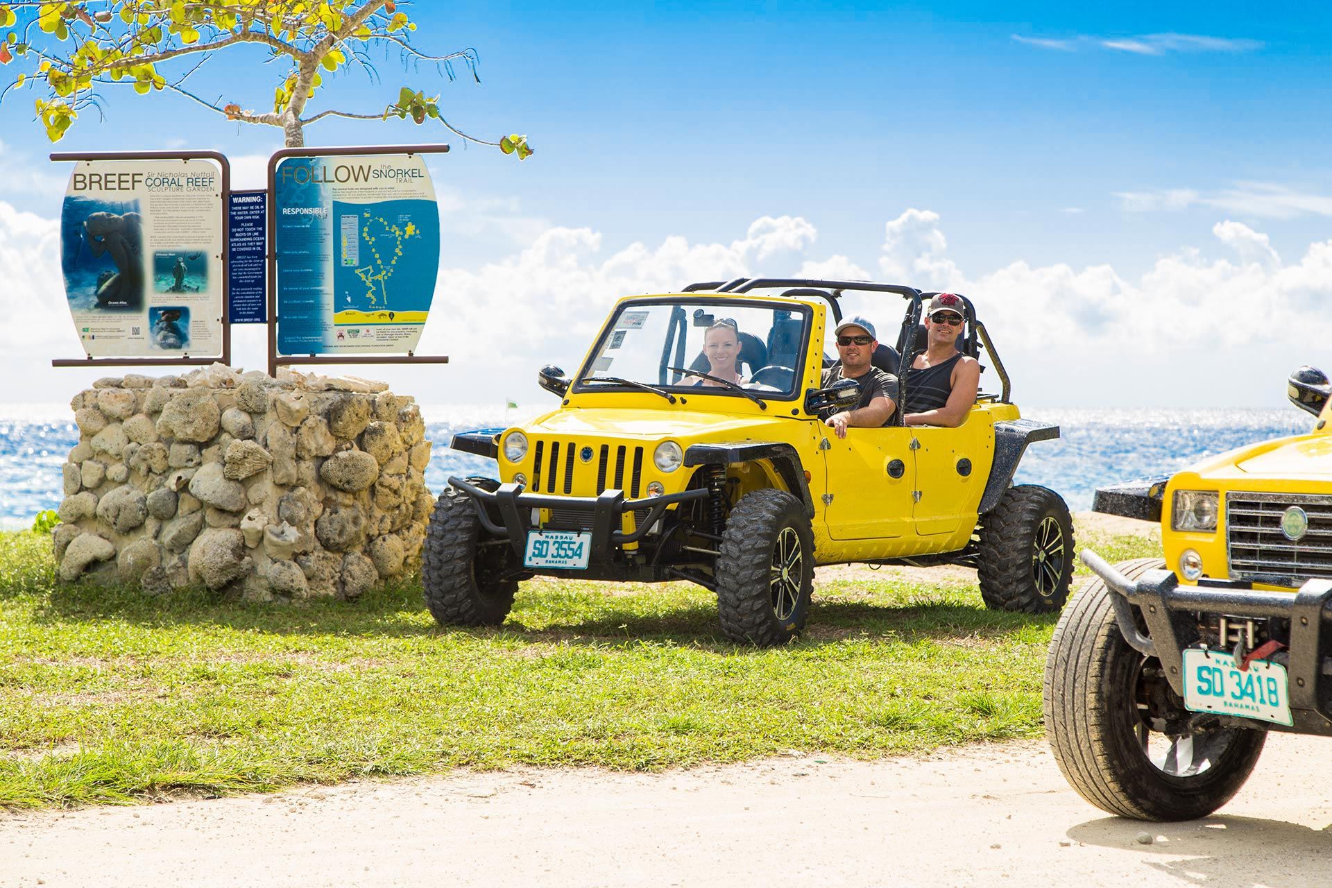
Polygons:
<instances>
[{"instance_id":1,"label":"man in red cap, sunglasses and black tank top","mask_svg":"<svg viewBox=\"0 0 1332 888\"><path fill-rule=\"evenodd\" d=\"M906 414L908 426L960 426L976 402L980 365L958 351L964 320L962 297L939 293L926 309L926 350L907 369Z\"/></svg>"}]
</instances>

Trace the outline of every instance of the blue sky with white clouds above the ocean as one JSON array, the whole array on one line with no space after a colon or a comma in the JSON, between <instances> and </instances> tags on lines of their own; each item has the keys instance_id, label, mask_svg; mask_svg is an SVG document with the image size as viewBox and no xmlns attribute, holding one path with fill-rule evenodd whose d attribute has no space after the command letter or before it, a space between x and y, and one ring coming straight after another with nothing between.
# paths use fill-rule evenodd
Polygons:
<instances>
[{"instance_id":1,"label":"blue sky with white clouds above the ocean","mask_svg":"<svg viewBox=\"0 0 1332 888\"><path fill-rule=\"evenodd\" d=\"M446 216L437 309L452 318L437 312L422 347L454 357L436 401L466 399L486 374L538 398L533 370L577 361L614 297L717 269L966 286L1035 403L1277 405L1293 366L1324 359L1332 12L462 3L412 15L420 47L476 47L481 84L461 67L452 84L433 68L404 75L392 55L377 60L382 83L344 73L312 109L376 111L410 83L441 93L461 129L526 133L537 148L518 164L396 121L308 130L310 144L454 145L433 164ZM194 89L264 108L277 71L258 52L233 59ZM44 160L29 109L28 96L0 105L0 220L3 205L11 218L59 214L67 170ZM127 91L59 148L217 148L244 173L276 136ZM3 225L0 264L7 242L8 261L44 261L33 224ZM28 298L51 302L56 325L49 284L37 274ZM534 320L484 346L464 335L514 313ZM1308 320L1300 335L1264 335L1280 317ZM61 335L0 359L71 355ZM245 342L241 361L260 365L261 345ZM1252 374L1203 395L1185 382L1232 377L1240 361ZM1070 363L1102 383L1050 373ZM64 399L79 373L41 371L29 397ZM414 373L384 375L412 387Z\"/></svg>"}]
</instances>

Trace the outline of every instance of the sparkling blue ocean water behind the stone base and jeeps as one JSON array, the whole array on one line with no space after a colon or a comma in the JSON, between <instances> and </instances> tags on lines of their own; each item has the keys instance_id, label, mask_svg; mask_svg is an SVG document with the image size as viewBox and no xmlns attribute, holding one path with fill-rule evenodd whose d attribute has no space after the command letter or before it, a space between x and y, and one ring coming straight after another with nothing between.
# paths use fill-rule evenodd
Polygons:
<instances>
[{"instance_id":1,"label":"sparkling blue ocean water behind the stone base and jeeps","mask_svg":"<svg viewBox=\"0 0 1332 888\"><path fill-rule=\"evenodd\" d=\"M426 467L426 485L434 493L449 475L494 475L494 461L449 449L453 433L513 425L533 415L470 405L422 406L421 411L434 442ZM1098 486L1169 473L1200 457L1313 426L1313 418L1295 407L1034 409L1028 415L1059 423L1060 438L1028 447L1016 481L1058 490L1074 511L1091 509ZM0 527L29 527L36 513L60 505L60 466L77 441L67 405L0 403Z\"/></svg>"}]
</instances>

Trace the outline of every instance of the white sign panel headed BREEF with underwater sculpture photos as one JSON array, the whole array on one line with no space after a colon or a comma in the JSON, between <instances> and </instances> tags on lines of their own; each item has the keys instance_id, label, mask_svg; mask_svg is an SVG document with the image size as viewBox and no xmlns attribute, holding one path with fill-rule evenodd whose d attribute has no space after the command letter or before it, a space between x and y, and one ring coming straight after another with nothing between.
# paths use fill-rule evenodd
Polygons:
<instances>
[{"instance_id":1,"label":"white sign panel headed BREEF with underwater sculpture photos","mask_svg":"<svg viewBox=\"0 0 1332 888\"><path fill-rule=\"evenodd\" d=\"M222 213L222 174L209 161L79 161L60 266L84 351L221 354Z\"/></svg>"}]
</instances>

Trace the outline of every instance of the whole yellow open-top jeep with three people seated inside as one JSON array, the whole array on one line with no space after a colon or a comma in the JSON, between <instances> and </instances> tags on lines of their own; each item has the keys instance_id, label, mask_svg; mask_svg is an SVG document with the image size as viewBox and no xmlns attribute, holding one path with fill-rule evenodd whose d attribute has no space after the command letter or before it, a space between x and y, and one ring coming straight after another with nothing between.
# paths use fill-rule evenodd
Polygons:
<instances>
[{"instance_id":1,"label":"whole yellow open-top jeep with three people seated inside","mask_svg":"<svg viewBox=\"0 0 1332 888\"><path fill-rule=\"evenodd\" d=\"M963 300L959 347L994 367L1000 391L978 395L956 429L906 427L899 410L838 439L819 414L859 389L822 387L825 343L852 292L906 301L896 347L875 358L904 378L932 293L754 278L621 300L571 378L541 371L555 410L454 437L496 458L500 478L449 478L436 503L422 566L434 618L500 624L533 574L687 579L717 592L727 636L778 644L805 626L815 564L846 562L975 566L988 607L1058 611L1068 509L1012 475L1027 443L1059 427L1019 417ZM738 333L739 383L706 373L705 333L719 322Z\"/></svg>"}]
</instances>

